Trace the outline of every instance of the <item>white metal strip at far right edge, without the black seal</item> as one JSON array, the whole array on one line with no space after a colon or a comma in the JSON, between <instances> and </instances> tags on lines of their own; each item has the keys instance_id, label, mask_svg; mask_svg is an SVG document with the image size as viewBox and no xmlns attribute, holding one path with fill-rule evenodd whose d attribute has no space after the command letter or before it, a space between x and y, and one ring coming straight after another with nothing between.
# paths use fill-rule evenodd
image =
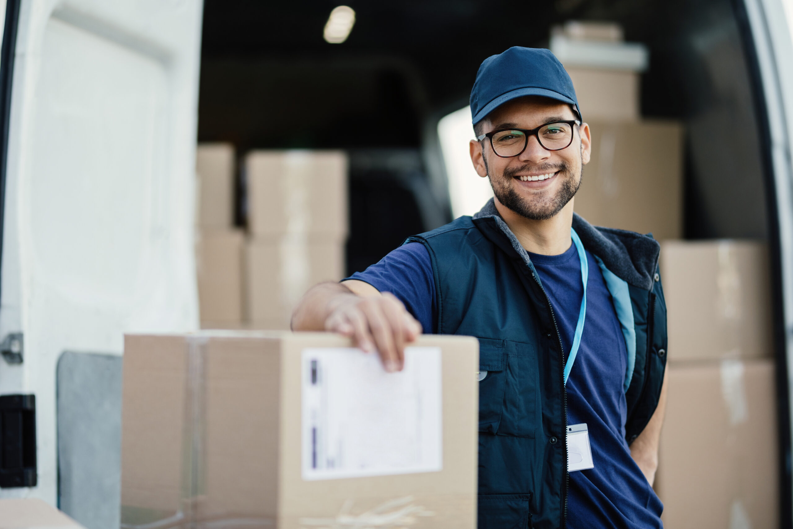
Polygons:
<instances>
[{"instance_id":1,"label":"white metal strip at far right edge, without the black seal","mask_svg":"<svg viewBox=\"0 0 793 529\"><path fill-rule=\"evenodd\" d=\"M773 182L780 228L787 387L793 412L793 39L791 0L745 0L771 132ZM791 418L793 424L793 418Z\"/></svg>"}]
</instances>

